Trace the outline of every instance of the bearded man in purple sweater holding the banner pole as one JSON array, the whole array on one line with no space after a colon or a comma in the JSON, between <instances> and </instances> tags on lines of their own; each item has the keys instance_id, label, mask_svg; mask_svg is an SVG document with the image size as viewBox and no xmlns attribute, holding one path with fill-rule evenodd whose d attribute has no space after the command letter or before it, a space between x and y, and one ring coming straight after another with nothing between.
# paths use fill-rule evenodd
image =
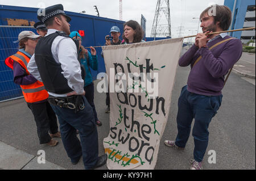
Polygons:
<instances>
[{"instance_id":1,"label":"bearded man in purple sweater holding the banner pole","mask_svg":"<svg viewBox=\"0 0 256 181\"><path fill-rule=\"evenodd\" d=\"M213 9L215 14L212 15L210 12ZM228 7L208 7L201 13L200 20L203 33L197 34L195 45L179 60L180 66L190 65L191 71L178 101L177 137L175 141L164 141L164 144L174 149L184 149L192 120L195 119L192 131L195 148L191 170L203 169L201 162L208 146L208 127L221 106L225 75L242 55L241 40L232 38L227 33L205 35L228 30L231 23L231 11ZM216 47L209 50L213 45Z\"/></svg>"}]
</instances>

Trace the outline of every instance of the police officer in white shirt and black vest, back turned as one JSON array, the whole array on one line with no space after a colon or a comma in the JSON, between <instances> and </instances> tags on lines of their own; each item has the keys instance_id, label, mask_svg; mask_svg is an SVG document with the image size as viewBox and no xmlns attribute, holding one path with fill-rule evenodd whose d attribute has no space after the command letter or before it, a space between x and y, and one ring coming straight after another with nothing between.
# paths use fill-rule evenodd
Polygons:
<instances>
[{"instance_id":1,"label":"police officer in white shirt and black vest, back turned","mask_svg":"<svg viewBox=\"0 0 256 181\"><path fill-rule=\"evenodd\" d=\"M98 132L93 110L84 97L76 44L68 36L71 18L59 4L47 7L45 15L38 15L38 19L46 25L48 32L36 45L28 71L41 80L48 91L48 101L58 116L61 139L71 163L76 165L82 156L85 169L100 167L106 163L107 155L98 157Z\"/></svg>"}]
</instances>

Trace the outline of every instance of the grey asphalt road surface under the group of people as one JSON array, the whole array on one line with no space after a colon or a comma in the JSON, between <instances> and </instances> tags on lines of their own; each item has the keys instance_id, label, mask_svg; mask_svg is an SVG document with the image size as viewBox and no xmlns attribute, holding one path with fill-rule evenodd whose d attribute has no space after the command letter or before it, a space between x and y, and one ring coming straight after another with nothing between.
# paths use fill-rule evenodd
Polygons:
<instances>
[{"instance_id":1,"label":"grey asphalt road surface under the group of people","mask_svg":"<svg viewBox=\"0 0 256 181\"><path fill-rule=\"evenodd\" d=\"M189 68L178 68L172 93L171 111L166 130L160 142L158 162L155 169L189 169L189 158L193 155L193 138L189 138L183 151L164 146L163 141L175 139L177 133L177 99L181 87L187 82ZM95 86L96 87L96 86ZM216 151L216 164L209 164L205 155L204 169L255 169L255 86L240 75L232 73L223 90L222 106L209 127L209 150ZM105 113L105 94L95 92L95 103L99 119L99 153L104 154L103 139L109 133L109 114ZM56 147L39 145L36 125L24 99L0 104L0 141L36 155L38 150L46 151L46 160L64 169L84 169L82 161L76 166L69 162L60 143ZM0 153L1 154L1 153ZM14 161L15 162L15 161ZM35 167L36 169L36 167ZM102 166L98 169L107 169Z\"/></svg>"}]
</instances>

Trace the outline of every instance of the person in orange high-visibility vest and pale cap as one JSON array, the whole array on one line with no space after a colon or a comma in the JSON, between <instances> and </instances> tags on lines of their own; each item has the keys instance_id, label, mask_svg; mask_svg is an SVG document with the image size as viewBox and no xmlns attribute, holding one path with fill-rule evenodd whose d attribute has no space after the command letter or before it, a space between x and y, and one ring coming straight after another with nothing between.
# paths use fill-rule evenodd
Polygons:
<instances>
[{"instance_id":1,"label":"person in orange high-visibility vest and pale cap","mask_svg":"<svg viewBox=\"0 0 256 181\"><path fill-rule=\"evenodd\" d=\"M59 137L57 117L47 102L48 93L42 82L38 81L27 70L27 64L35 52L40 35L32 31L19 33L19 50L6 58L5 64L13 69L14 83L20 85L28 108L34 115L40 144L56 146L58 141L52 137ZM49 135L50 132L51 134Z\"/></svg>"}]
</instances>

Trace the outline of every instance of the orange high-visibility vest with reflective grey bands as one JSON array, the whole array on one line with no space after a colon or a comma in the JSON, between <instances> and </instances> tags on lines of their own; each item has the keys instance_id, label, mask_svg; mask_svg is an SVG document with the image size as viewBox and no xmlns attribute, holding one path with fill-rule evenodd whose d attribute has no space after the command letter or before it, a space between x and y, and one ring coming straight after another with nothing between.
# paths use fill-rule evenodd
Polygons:
<instances>
[{"instance_id":1,"label":"orange high-visibility vest with reflective grey bands","mask_svg":"<svg viewBox=\"0 0 256 181\"><path fill-rule=\"evenodd\" d=\"M30 61L30 58L26 56L26 54L22 52L17 52L12 56L6 58L5 64L9 66L9 68L13 69L13 61L18 62L25 70L27 75L29 75L29 71L27 70L27 64ZM22 93L26 102L35 103L40 100L46 100L48 98L48 92L44 89L44 85L40 81L36 81L30 85L20 85L22 89Z\"/></svg>"}]
</instances>

